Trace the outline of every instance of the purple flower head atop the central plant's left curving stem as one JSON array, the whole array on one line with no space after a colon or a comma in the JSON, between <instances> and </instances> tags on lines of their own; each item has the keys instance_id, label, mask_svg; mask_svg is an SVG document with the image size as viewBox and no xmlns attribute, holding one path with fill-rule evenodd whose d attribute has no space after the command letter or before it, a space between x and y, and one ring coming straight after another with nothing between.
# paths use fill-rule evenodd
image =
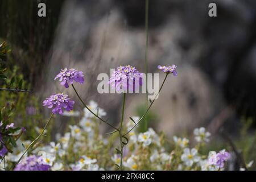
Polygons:
<instances>
[{"instance_id":1,"label":"purple flower head atop the central plant's left curving stem","mask_svg":"<svg viewBox=\"0 0 256 182\"><path fill-rule=\"evenodd\" d=\"M84 83L84 74L76 69L61 69L60 73L54 78L60 79L60 84L64 85L65 88L69 87L69 84L73 84L74 81L79 82L80 84Z\"/></svg>"}]
</instances>

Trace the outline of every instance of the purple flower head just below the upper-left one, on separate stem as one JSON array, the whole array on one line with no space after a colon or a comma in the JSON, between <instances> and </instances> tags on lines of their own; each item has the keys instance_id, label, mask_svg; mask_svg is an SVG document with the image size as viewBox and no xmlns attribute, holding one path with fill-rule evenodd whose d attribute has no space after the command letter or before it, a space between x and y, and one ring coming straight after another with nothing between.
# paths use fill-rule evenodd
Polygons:
<instances>
[{"instance_id":1,"label":"purple flower head just below the upper-left one, on separate stem","mask_svg":"<svg viewBox=\"0 0 256 182\"><path fill-rule=\"evenodd\" d=\"M68 95L64 95L63 93L54 94L43 102L43 106L47 106L48 108L53 108L52 113L54 114L63 114L63 108L67 111L73 110L73 105L75 101L70 100Z\"/></svg>"}]
</instances>

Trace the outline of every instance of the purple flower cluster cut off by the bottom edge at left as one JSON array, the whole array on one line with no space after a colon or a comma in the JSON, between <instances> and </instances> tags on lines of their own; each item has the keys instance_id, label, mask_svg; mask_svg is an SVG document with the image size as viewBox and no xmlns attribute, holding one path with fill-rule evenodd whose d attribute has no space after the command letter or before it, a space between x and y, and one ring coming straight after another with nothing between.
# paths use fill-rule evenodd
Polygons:
<instances>
[{"instance_id":1,"label":"purple flower cluster cut off by the bottom edge at left","mask_svg":"<svg viewBox=\"0 0 256 182\"><path fill-rule=\"evenodd\" d=\"M14 171L49 171L50 168L43 162L42 156L31 155L17 164Z\"/></svg>"}]
</instances>

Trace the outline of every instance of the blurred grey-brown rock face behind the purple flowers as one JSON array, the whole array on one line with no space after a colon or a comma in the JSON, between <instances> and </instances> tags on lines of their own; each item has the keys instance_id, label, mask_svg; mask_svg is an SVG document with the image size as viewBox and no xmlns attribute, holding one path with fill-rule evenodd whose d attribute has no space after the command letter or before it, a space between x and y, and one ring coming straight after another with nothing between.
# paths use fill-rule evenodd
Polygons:
<instances>
[{"instance_id":1,"label":"blurred grey-brown rock face behind the purple flowers","mask_svg":"<svg viewBox=\"0 0 256 182\"><path fill-rule=\"evenodd\" d=\"M207 125L229 104L240 114L255 114L256 3L216 1L218 17L209 18L209 2L150 1L149 71L178 65L178 77L170 76L153 107L159 129L170 134ZM97 75L126 64L144 71L144 1L66 1L60 19L44 86L50 93L64 90L52 86L52 78L61 68L77 68L85 73L85 85L77 85L82 97L99 102L117 121L121 96L98 94ZM128 100L130 116L145 96Z\"/></svg>"}]
</instances>

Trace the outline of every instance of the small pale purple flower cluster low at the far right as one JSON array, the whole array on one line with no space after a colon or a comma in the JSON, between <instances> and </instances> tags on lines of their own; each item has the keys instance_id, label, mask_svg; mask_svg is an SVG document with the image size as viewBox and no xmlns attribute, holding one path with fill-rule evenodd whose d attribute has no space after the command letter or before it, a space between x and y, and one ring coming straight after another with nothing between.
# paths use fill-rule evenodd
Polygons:
<instances>
[{"instance_id":1,"label":"small pale purple flower cluster low at the far right","mask_svg":"<svg viewBox=\"0 0 256 182\"><path fill-rule=\"evenodd\" d=\"M224 163L230 158L229 152L221 150L218 153L215 151L209 152L208 163L218 168L224 168Z\"/></svg>"}]
</instances>

